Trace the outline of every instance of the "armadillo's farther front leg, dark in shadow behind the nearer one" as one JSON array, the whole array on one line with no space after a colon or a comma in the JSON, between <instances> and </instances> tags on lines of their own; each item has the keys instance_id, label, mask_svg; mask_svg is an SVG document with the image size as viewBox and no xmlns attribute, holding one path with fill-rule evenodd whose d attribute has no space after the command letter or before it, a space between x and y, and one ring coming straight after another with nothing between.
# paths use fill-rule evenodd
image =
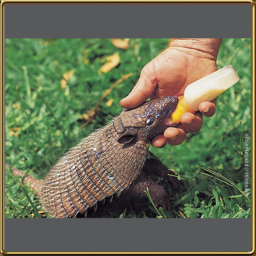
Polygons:
<instances>
[{"instance_id":1,"label":"armadillo's farther front leg, dark in shadow behind the nearer one","mask_svg":"<svg viewBox=\"0 0 256 256\"><path fill-rule=\"evenodd\" d=\"M169 182L175 190L180 190L181 182L176 177L168 175L171 174L176 176L176 174L169 170L168 167L164 165L154 154L151 152L148 153L149 156L146 159L143 172L156 174L162 177L165 182Z\"/></svg>"}]
</instances>

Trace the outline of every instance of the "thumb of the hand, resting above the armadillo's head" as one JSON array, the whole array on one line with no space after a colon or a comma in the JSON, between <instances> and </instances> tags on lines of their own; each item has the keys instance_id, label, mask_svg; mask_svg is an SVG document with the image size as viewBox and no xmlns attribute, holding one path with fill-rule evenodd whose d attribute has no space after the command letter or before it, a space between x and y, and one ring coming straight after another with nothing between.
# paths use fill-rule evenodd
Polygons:
<instances>
[{"instance_id":1,"label":"thumb of the hand, resting above the armadillo's head","mask_svg":"<svg viewBox=\"0 0 256 256\"><path fill-rule=\"evenodd\" d=\"M132 91L124 99L119 101L120 105L126 109L136 108L146 101L157 86L157 79L154 71L153 61L150 61L143 67L140 77Z\"/></svg>"}]
</instances>

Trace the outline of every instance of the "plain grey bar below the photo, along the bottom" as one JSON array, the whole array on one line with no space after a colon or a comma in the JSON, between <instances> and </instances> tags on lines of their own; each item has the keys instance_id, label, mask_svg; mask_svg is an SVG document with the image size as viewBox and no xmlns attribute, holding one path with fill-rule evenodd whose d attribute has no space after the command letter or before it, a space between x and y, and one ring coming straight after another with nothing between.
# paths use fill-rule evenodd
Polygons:
<instances>
[{"instance_id":1,"label":"plain grey bar below the photo, along the bottom","mask_svg":"<svg viewBox=\"0 0 256 256\"><path fill-rule=\"evenodd\" d=\"M251 251L251 219L5 219L6 251ZM15 241L15 242L14 242Z\"/></svg>"}]
</instances>

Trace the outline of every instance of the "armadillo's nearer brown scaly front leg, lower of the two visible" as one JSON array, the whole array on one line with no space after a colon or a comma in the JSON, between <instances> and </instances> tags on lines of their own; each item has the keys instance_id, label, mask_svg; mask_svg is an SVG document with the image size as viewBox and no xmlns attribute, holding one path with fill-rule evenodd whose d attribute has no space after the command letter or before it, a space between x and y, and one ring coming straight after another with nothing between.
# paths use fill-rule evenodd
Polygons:
<instances>
[{"instance_id":1,"label":"armadillo's nearer brown scaly front leg, lower of the two visible","mask_svg":"<svg viewBox=\"0 0 256 256\"><path fill-rule=\"evenodd\" d=\"M148 188L149 194L156 207L162 206L164 209L170 209L170 202L165 189L143 174L141 174L134 184L129 187L126 194L129 197L137 199L147 198L146 188Z\"/></svg>"}]
</instances>

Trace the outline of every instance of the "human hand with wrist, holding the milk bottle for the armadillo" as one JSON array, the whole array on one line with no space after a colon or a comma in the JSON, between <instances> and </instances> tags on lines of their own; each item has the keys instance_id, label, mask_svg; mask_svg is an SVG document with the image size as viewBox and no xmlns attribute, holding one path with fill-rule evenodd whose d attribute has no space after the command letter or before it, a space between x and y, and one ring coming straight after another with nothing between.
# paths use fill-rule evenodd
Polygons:
<instances>
[{"instance_id":1,"label":"human hand with wrist, holding the milk bottle for the armadillo","mask_svg":"<svg viewBox=\"0 0 256 256\"><path fill-rule=\"evenodd\" d=\"M183 96L187 85L217 70L216 58L221 39L171 39L170 46L146 64L139 80L127 97L120 101L123 108L135 108L149 97L168 95ZM198 132L202 126L202 114L211 117L216 110L217 99L201 102L199 111L184 113L181 123L167 128L163 135L155 137L151 144L163 147L167 142L179 145L186 132Z\"/></svg>"}]
</instances>

